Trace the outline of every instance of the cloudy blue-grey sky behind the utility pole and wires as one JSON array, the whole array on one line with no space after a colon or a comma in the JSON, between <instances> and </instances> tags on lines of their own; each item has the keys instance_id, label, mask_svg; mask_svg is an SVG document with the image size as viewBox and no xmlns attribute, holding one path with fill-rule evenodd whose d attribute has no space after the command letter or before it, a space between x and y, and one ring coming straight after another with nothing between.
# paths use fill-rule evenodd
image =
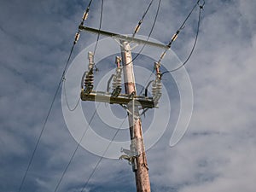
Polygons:
<instances>
[{"instance_id":1,"label":"cloudy blue-grey sky behind the utility pole and wires","mask_svg":"<svg viewBox=\"0 0 256 192\"><path fill-rule=\"evenodd\" d=\"M131 34L149 2L104 0L102 29ZM19 191L88 3L88 0L9 0L1 3L0 191ZM157 4L158 0L154 0L138 35L148 36ZM167 44L194 4L195 1L162 0L151 38ZM188 131L177 145L170 147L169 140L181 103L178 99L181 92L175 84L179 71L163 78L172 110L162 102L159 109L149 110L146 117L142 117L143 131L147 131L153 124L154 112L170 114L167 125L162 125L161 119L156 120L159 129L165 126L165 130L147 151L152 191L255 191L255 8L254 0L206 0L198 42L185 66L194 98ZM99 26L100 9L101 1L93 1L85 25ZM187 58L194 44L198 11L195 9L172 45L172 51L181 61ZM81 33L72 61L95 42L96 35ZM96 56L102 56L101 49L109 49L108 46L99 44ZM152 54L158 51L151 49ZM96 82L114 69L111 63L114 54L96 63L100 70ZM84 63L86 68L87 58ZM148 70L153 64L153 59L146 55L134 61L135 66ZM172 69L172 63L169 67ZM140 79L137 76L136 72L136 79ZM138 86L137 90L141 88ZM81 105L89 120L95 105L87 102ZM109 118L115 119L114 114L116 119L124 119L123 108L112 107L112 111ZM91 125L99 135L108 139L115 131L104 124L98 114ZM127 132L127 129L120 131L117 139L123 141L129 137ZM90 144L96 145L93 141ZM21 191L54 191L76 146L62 113L60 91ZM81 191L99 158L80 147L58 191ZM125 160L117 159L102 159L84 191L135 191L131 166Z\"/></svg>"}]
</instances>

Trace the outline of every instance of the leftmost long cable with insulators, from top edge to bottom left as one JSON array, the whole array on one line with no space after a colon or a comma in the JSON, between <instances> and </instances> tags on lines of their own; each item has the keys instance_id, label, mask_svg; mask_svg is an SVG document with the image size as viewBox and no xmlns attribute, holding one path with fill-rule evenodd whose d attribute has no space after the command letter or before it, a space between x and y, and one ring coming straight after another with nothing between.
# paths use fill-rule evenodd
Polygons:
<instances>
[{"instance_id":1,"label":"leftmost long cable with insulators, from top edge to bottom left","mask_svg":"<svg viewBox=\"0 0 256 192\"><path fill-rule=\"evenodd\" d=\"M84 23L84 20L86 20L87 15L88 15L89 10L90 10L90 4L91 4L92 1L93 1L93 0L90 0L90 3L89 3L89 5L88 5L87 9L86 9L86 11L84 12L83 20L81 21L81 23ZM80 32L80 31L79 31L79 32ZM23 185L24 185L24 183L25 183L27 173L28 173L28 171L29 171L29 169L30 169L30 166L32 165L32 160L34 159L35 153L36 153L36 151L37 151L37 149L38 149L38 145L39 145L40 140L41 140L41 138L42 138L42 136L43 136L44 129L45 129L45 125L46 125L46 123L48 122L49 114L50 114L50 112L51 112L51 110L52 110L52 108L53 108L53 105L54 105L56 96L58 95L58 92L59 92L59 90L60 90L60 88L61 88L61 83L62 83L63 80L65 80L65 74L66 74L66 72L67 72L67 67L68 67L69 61L70 61L70 59L71 59L71 55L72 55L72 53L73 53L74 46L75 46L75 44L77 44L77 42L78 42L78 40L79 40L79 32L77 32L76 35L75 35L75 38L74 38L74 41L73 41L73 46L72 46L72 48L71 48L71 50L70 50L70 53L69 53L69 55L68 55L68 57L67 57L67 62L66 62L66 65L65 65L65 67L64 67L64 69L63 69L63 72L62 72L62 75L61 75L61 79L60 79L60 81L59 81L59 83L58 83L58 85L57 85L57 88L56 88L56 90L55 90L55 95L53 96L52 102L51 102L50 105L49 105L48 113L47 113L47 115L46 115L46 117L45 117L45 119L44 119L44 124L43 124L42 129L41 129L41 131L40 131L40 133L39 133L39 137L38 137L38 140L37 140L37 142L36 142L35 148L34 148L33 151L32 151L32 156L31 156L31 158L30 158L30 160L29 160L29 162L28 162L28 165L27 165L27 167L26 167L26 172L25 172L24 176L22 177L22 180L21 180L21 183L20 183L20 187L19 187L19 192L21 191L21 189L22 189L22 187L23 187Z\"/></svg>"}]
</instances>

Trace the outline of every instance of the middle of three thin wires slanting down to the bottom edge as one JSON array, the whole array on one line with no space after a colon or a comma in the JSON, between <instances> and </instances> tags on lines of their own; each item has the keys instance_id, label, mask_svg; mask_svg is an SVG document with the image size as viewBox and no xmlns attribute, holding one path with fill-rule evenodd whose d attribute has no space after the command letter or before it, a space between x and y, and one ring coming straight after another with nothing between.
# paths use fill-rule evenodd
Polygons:
<instances>
[{"instance_id":1,"label":"middle of three thin wires slanting down to the bottom edge","mask_svg":"<svg viewBox=\"0 0 256 192\"><path fill-rule=\"evenodd\" d=\"M56 187L55 187L55 192L59 189L59 186L60 186L60 184L61 184L61 181L62 181L63 177L65 176L68 167L70 166L71 162L73 161L73 157L74 157L74 155L76 154L76 152L78 151L79 146L80 146L80 143L82 143L82 141L83 141L83 139L84 139L84 136L85 136L86 132L88 131L89 126L90 126L90 123L91 123L92 120L94 119L94 117L95 117L95 115L96 115L96 110L97 110L97 108L98 108L99 106L100 106L100 104L97 105L97 107L96 107L94 113L92 114L92 116L91 116L91 118L90 118L90 121L89 121L89 123L88 123L86 129L84 130L84 133L83 133L82 137L81 137L80 140L79 140L79 143L77 144L75 150L73 151L73 154L72 154L70 160L69 160L68 163L67 163L67 166L66 166L64 172L62 172L61 178L60 178L59 182L57 183L57 185L56 185Z\"/></svg>"}]
</instances>

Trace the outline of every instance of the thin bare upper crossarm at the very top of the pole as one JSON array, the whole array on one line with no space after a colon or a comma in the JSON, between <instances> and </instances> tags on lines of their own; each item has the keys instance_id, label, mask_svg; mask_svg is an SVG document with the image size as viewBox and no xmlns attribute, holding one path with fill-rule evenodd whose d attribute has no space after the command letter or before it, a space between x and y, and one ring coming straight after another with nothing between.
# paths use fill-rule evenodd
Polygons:
<instances>
[{"instance_id":1,"label":"thin bare upper crossarm at the very top of the pole","mask_svg":"<svg viewBox=\"0 0 256 192\"><path fill-rule=\"evenodd\" d=\"M140 38L132 38L132 37L129 37L127 35L120 35L120 34L113 33L113 32L106 32L106 31L95 29L95 28L91 28L89 26L81 26L80 25L79 30L84 31L84 32L91 32L91 33L101 34L102 36L127 41L129 43L145 44L145 45L149 45L149 46L153 46L153 47L158 47L158 48L161 48L161 49L170 49L170 47L166 44L158 44L158 43L143 40L143 39L140 39Z\"/></svg>"}]
</instances>

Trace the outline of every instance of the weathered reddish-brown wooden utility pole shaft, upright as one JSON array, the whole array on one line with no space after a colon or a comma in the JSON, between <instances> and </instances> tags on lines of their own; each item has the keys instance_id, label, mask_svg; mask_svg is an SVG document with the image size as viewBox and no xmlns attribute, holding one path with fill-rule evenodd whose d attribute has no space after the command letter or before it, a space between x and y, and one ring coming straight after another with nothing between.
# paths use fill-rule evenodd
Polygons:
<instances>
[{"instance_id":1,"label":"weathered reddish-brown wooden utility pole shaft, upright","mask_svg":"<svg viewBox=\"0 0 256 192\"><path fill-rule=\"evenodd\" d=\"M125 80L125 93L129 95L136 95L136 84L133 73L133 64L131 58L131 48L128 42L120 41L122 44L122 62ZM130 136L131 136L131 152L135 157L133 159L133 170L136 177L137 192L150 192L150 182L148 176L148 164L143 143L143 130L138 108L134 105L134 100L128 104Z\"/></svg>"}]
</instances>

